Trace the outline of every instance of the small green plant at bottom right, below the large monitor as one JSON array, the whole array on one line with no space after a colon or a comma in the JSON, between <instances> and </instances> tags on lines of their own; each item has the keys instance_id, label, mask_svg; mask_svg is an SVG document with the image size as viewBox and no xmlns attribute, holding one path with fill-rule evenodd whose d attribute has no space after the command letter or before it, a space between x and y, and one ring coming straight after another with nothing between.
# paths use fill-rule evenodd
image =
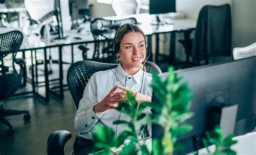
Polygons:
<instances>
[{"instance_id":1,"label":"small green plant at bottom right, below the large monitor","mask_svg":"<svg viewBox=\"0 0 256 155\"><path fill-rule=\"evenodd\" d=\"M234 150L231 149L231 146L237 143L236 140L232 140L233 134L229 134L226 138L223 138L223 132L220 129L220 126L216 126L213 131L206 132L206 139L203 138L204 147L207 149L207 154L227 154L233 155L237 154ZM211 152L208 149L208 145L215 145L215 151Z\"/></svg>"}]
</instances>

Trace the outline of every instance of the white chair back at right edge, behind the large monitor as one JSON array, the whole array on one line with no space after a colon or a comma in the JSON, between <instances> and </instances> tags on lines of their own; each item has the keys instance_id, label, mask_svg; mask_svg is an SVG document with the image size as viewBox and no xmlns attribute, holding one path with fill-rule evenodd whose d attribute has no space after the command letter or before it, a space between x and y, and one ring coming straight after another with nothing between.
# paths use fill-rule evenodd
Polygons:
<instances>
[{"instance_id":1,"label":"white chair back at right edge, behind the large monitor","mask_svg":"<svg viewBox=\"0 0 256 155\"><path fill-rule=\"evenodd\" d=\"M244 59L253 56L256 56L256 43L253 43L244 48L234 48L233 50L234 60Z\"/></svg>"}]
</instances>

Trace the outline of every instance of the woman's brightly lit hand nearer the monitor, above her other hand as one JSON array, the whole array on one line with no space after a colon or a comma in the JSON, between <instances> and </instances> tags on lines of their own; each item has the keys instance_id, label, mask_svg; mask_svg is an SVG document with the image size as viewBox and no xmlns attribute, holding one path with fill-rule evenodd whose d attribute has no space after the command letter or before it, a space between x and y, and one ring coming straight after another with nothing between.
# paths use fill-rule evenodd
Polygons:
<instances>
[{"instance_id":1,"label":"woman's brightly lit hand nearer the monitor, above her other hand","mask_svg":"<svg viewBox=\"0 0 256 155\"><path fill-rule=\"evenodd\" d=\"M147 95L143 95L141 93L138 93L138 92L135 92L135 91L132 91L130 89L127 89L126 87L124 86L120 86L120 85L117 85L117 87L119 89L122 89L123 92L117 92L117 93L114 93L114 95L122 95L122 96L126 96L126 91L129 91L133 96L136 94L136 101L140 104L142 102L151 102L152 98L150 96L147 96ZM126 98L125 98L126 99Z\"/></svg>"}]
</instances>

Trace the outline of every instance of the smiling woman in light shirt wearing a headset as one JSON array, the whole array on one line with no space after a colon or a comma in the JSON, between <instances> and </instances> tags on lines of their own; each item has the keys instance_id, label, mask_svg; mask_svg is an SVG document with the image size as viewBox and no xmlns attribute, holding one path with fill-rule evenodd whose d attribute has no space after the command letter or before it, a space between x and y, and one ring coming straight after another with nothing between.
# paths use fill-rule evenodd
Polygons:
<instances>
[{"instance_id":1,"label":"smiling woman in light shirt wearing a headset","mask_svg":"<svg viewBox=\"0 0 256 155\"><path fill-rule=\"evenodd\" d=\"M117 134L124 130L123 125L113 122L118 119L131 120L126 114L115 110L116 104L126 98L126 90L133 95L137 93L138 103L151 102L152 89L149 84L152 76L143 68L147 50L144 32L134 24L120 26L114 37L113 49L120 57L120 64L115 69L93 74L80 100L75 116L75 128L80 139L75 154L92 149L90 139L96 123L111 127Z\"/></svg>"}]
</instances>

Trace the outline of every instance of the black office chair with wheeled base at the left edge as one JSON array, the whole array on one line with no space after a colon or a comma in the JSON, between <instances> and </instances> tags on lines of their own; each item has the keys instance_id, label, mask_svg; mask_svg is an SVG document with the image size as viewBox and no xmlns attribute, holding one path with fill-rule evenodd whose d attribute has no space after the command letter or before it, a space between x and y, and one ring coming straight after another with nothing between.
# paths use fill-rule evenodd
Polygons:
<instances>
[{"instance_id":1,"label":"black office chair with wheeled base at the left edge","mask_svg":"<svg viewBox=\"0 0 256 155\"><path fill-rule=\"evenodd\" d=\"M23 34L20 31L10 31L0 35L0 100L8 99L18 90L23 77L25 61L16 59L16 52L22 44ZM15 63L19 65L17 72ZM16 114L23 114L25 120L30 120L28 110L5 110L0 104L0 121L9 127L8 134L14 134L12 125L4 118Z\"/></svg>"}]
</instances>

